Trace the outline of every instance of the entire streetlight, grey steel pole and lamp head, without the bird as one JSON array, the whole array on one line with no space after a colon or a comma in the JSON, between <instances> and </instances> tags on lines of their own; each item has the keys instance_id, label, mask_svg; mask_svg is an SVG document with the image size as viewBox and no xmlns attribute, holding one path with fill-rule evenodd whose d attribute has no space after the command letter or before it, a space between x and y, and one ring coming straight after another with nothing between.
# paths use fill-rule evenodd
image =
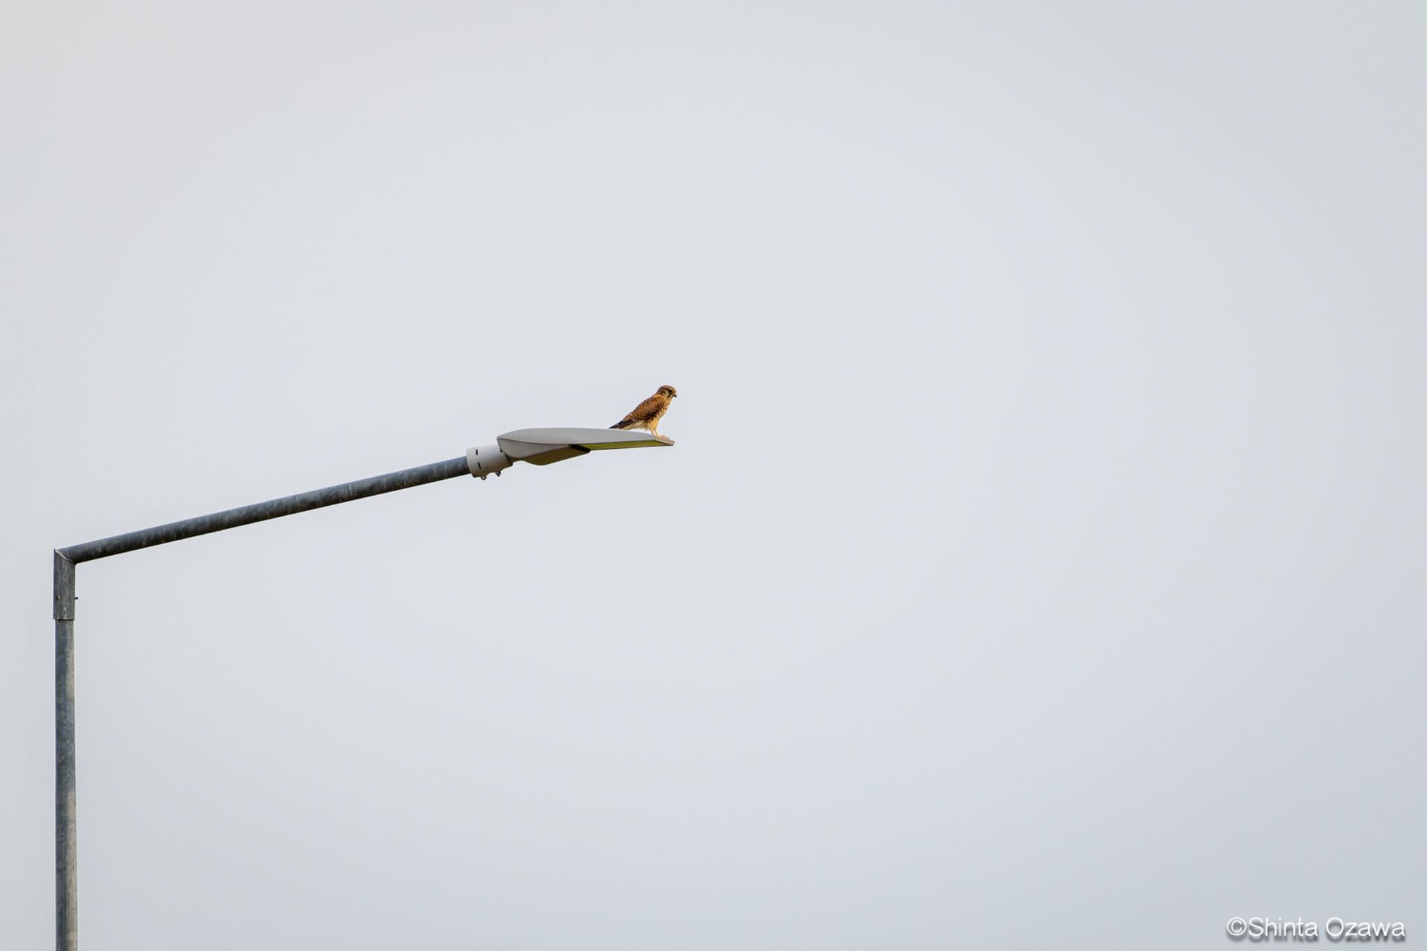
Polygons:
<instances>
[{"instance_id":1,"label":"entire streetlight, grey steel pole and lamp head, without the bird","mask_svg":"<svg viewBox=\"0 0 1427 951\"><path fill-rule=\"evenodd\" d=\"M672 446L666 436L626 429L517 429L498 436L495 445L475 446L464 456L388 472L387 475L245 505L240 509L200 515L151 529L127 532L54 550L54 947L78 948L78 894L76 875L74 824L74 566L80 562L123 555L153 545L166 545L195 535L277 519L320 509L368 495L410 489L428 482L471 475L485 479L501 475L517 462L545 466L598 449Z\"/></svg>"}]
</instances>

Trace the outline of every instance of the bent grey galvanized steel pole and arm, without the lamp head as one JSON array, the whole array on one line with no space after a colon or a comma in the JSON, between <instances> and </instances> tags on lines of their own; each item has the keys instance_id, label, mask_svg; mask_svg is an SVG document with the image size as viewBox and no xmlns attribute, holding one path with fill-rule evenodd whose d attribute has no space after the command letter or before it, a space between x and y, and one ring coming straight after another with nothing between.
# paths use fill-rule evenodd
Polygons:
<instances>
[{"instance_id":1,"label":"bent grey galvanized steel pole and arm, without the lamp head","mask_svg":"<svg viewBox=\"0 0 1427 951\"><path fill-rule=\"evenodd\" d=\"M508 463L507 463L508 465ZM195 519L170 522L54 552L54 947L78 951L78 881L74 820L74 566L195 535L364 499L370 495L471 475L467 456L344 482Z\"/></svg>"}]
</instances>

